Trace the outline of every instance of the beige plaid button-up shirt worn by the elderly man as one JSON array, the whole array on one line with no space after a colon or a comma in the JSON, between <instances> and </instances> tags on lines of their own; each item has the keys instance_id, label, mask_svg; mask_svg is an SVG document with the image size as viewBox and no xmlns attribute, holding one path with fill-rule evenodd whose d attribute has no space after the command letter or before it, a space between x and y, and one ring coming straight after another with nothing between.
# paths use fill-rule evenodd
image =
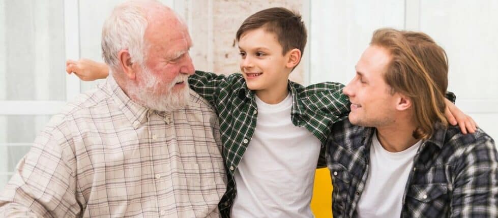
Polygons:
<instances>
[{"instance_id":1,"label":"beige plaid button-up shirt worn by the elderly man","mask_svg":"<svg viewBox=\"0 0 498 218\"><path fill-rule=\"evenodd\" d=\"M0 196L0 216L218 217L218 117L190 96L185 109L152 111L108 77L52 117Z\"/></svg>"}]
</instances>

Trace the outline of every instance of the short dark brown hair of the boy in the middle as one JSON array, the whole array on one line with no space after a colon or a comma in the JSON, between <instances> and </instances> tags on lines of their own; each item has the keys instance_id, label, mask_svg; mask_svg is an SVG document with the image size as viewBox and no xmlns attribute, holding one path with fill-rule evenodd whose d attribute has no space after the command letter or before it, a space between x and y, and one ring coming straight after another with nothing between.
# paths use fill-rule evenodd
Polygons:
<instances>
[{"instance_id":1,"label":"short dark brown hair of the boy in the middle","mask_svg":"<svg viewBox=\"0 0 498 218\"><path fill-rule=\"evenodd\" d=\"M307 33L306 26L297 12L285 8L269 8L249 16L237 30L236 39L253 29L264 28L269 33L277 35L278 42L282 46L282 54L297 48L304 52Z\"/></svg>"}]
</instances>

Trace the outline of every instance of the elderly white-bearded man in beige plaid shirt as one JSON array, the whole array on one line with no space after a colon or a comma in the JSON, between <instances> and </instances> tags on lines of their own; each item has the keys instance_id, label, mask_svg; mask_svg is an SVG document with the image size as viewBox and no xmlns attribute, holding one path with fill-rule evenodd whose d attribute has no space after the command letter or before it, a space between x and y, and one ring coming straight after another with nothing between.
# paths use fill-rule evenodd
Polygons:
<instances>
[{"instance_id":1,"label":"elderly white-bearded man in beige plaid shirt","mask_svg":"<svg viewBox=\"0 0 498 218\"><path fill-rule=\"evenodd\" d=\"M112 76L55 115L0 196L0 216L218 217L217 116L187 83L187 27L127 2L103 27Z\"/></svg>"}]
</instances>

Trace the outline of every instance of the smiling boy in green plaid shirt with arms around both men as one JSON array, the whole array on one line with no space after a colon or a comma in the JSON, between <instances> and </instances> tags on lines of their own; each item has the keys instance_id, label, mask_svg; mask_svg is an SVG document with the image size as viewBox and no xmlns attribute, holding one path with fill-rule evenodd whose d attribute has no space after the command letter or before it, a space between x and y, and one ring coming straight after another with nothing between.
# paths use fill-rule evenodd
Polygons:
<instances>
[{"instance_id":1,"label":"smiling boy in green plaid shirt with arms around both men","mask_svg":"<svg viewBox=\"0 0 498 218\"><path fill-rule=\"evenodd\" d=\"M306 39L299 14L262 10L237 32L242 74L196 71L189 78L190 87L219 115L228 175L220 201L224 217L313 216L315 168L325 154L329 127L349 108L339 83L304 87L288 81ZM74 67L69 63L68 72L79 71Z\"/></svg>"}]
</instances>

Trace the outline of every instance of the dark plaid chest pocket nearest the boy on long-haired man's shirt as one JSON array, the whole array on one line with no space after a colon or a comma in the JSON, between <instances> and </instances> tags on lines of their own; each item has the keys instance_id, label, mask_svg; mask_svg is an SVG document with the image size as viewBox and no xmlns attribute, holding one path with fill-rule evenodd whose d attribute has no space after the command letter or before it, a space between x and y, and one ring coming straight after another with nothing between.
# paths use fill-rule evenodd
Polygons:
<instances>
[{"instance_id":1,"label":"dark plaid chest pocket nearest the boy on long-haired man's shirt","mask_svg":"<svg viewBox=\"0 0 498 218\"><path fill-rule=\"evenodd\" d=\"M346 167L340 164L329 165L330 175L332 177L332 211L334 216L339 217L345 212L348 205L348 190L350 188L351 175Z\"/></svg>"}]
</instances>

